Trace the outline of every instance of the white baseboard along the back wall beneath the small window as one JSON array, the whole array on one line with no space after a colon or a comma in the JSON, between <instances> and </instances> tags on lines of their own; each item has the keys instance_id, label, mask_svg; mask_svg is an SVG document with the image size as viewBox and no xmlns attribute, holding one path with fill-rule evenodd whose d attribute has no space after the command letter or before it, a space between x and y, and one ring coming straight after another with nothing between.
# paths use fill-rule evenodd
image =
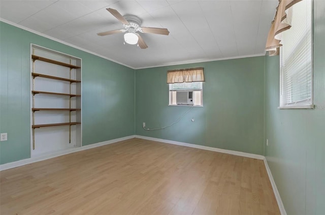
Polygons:
<instances>
[{"instance_id":1,"label":"white baseboard along the back wall beneath the small window","mask_svg":"<svg viewBox=\"0 0 325 215\"><path fill-rule=\"evenodd\" d=\"M191 147L191 148L199 148L199 149L204 149L204 150L209 150L209 151L216 151L216 152L226 153L226 154L230 154L230 155L242 156L242 157L246 157L246 158L253 158L253 159L259 159L259 160L265 159L264 156L241 152L241 151L233 151L233 150L222 149L222 148L214 148L214 147L210 147L210 146L196 145L196 144L191 144L191 143L177 142L177 141L173 141L173 140L165 140L165 139L140 136L140 135L136 135L135 137L140 138L140 139L145 139L145 140L170 143L170 144L174 144L174 145L182 145L182 146L187 146L187 147Z\"/></svg>"}]
</instances>

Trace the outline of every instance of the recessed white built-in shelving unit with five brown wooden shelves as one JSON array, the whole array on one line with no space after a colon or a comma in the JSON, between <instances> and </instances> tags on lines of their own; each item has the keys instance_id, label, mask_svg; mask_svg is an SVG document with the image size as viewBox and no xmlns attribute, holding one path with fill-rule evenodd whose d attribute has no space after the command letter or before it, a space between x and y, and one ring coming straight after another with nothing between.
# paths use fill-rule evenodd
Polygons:
<instances>
[{"instance_id":1,"label":"recessed white built-in shelving unit with five brown wooden shelves","mask_svg":"<svg viewBox=\"0 0 325 215\"><path fill-rule=\"evenodd\" d=\"M81 146L81 59L31 45L31 155Z\"/></svg>"}]
</instances>

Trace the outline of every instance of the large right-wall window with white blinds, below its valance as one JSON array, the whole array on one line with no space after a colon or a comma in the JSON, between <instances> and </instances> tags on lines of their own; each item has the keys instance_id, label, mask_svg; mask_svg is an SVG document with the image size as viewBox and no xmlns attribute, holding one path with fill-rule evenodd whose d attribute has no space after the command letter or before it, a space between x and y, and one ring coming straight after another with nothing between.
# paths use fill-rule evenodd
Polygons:
<instances>
[{"instance_id":1,"label":"large right-wall window with white blinds, below its valance","mask_svg":"<svg viewBox=\"0 0 325 215\"><path fill-rule=\"evenodd\" d=\"M293 6L292 26L281 34L280 108L312 108L312 1Z\"/></svg>"}]
</instances>

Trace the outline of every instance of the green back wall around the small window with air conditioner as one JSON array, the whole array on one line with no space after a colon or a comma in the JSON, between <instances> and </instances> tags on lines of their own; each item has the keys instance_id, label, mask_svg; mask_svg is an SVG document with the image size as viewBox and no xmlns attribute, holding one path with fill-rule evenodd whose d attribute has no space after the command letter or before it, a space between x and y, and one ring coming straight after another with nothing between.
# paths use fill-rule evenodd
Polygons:
<instances>
[{"instance_id":1,"label":"green back wall around the small window with air conditioner","mask_svg":"<svg viewBox=\"0 0 325 215\"><path fill-rule=\"evenodd\" d=\"M263 155L265 57L136 70L136 134ZM203 106L168 106L167 71L204 67ZM191 122L191 118L195 121Z\"/></svg>"}]
</instances>

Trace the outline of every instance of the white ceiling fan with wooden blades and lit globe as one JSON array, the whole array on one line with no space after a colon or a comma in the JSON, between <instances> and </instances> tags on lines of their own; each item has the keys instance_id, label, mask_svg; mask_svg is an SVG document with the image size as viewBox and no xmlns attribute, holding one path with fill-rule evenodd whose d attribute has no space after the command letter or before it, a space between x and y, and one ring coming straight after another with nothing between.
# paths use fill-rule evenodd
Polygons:
<instances>
[{"instance_id":1,"label":"white ceiling fan with wooden blades and lit globe","mask_svg":"<svg viewBox=\"0 0 325 215\"><path fill-rule=\"evenodd\" d=\"M125 29L110 30L108 32L98 33L99 36L112 35L117 33L124 33L124 41L128 44L138 44L140 48L148 48L147 44L144 42L142 37L137 33L149 33L149 34L158 34L158 35L169 35L167 28L157 28L157 27L141 27L141 20L137 16L125 15L122 16L117 10L112 8L107 8L113 16L115 16L120 22L123 23Z\"/></svg>"}]
</instances>

